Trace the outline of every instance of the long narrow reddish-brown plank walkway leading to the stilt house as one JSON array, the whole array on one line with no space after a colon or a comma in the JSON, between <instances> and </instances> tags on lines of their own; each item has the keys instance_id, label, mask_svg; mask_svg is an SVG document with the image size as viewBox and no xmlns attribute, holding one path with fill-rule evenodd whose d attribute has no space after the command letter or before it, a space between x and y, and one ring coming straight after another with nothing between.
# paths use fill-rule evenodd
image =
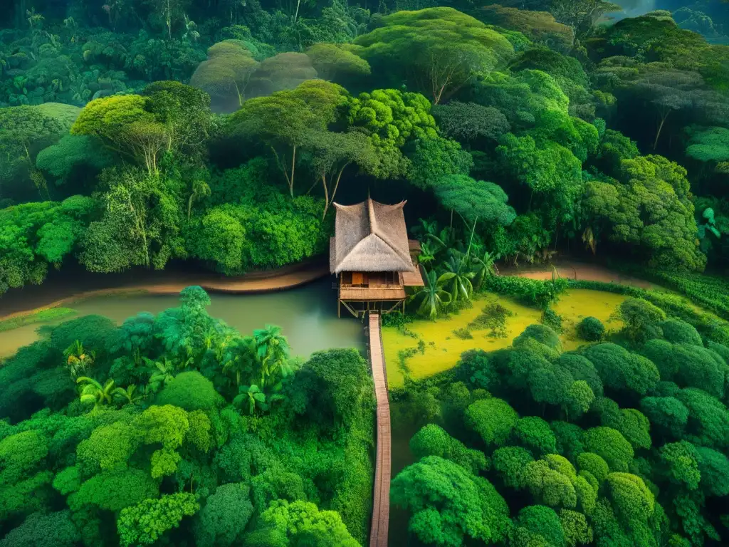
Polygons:
<instances>
[{"instance_id":1,"label":"long narrow reddish-brown plank walkway leading to the stilt house","mask_svg":"<svg viewBox=\"0 0 729 547\"><path fill-rule=\"evenodd\" d=\"M387 395L387 371L380 325L380 314L370 312L370 362L377 398L377 457L370 547L387 547L390 517L390 403Z\"/></svg>"}]
</instances>

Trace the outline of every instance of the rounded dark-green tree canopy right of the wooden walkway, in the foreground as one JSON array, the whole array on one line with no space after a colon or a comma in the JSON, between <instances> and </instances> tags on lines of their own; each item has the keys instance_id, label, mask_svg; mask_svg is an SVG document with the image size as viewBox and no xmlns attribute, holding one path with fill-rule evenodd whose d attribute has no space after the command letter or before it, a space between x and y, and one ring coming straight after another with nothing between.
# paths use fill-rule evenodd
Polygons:
<instances>
[{"instance_id":1,"label":"rounded dark-green tree canopy right of the wooden walkway, in the foreground","mask_svg":"<svg viewBox=\"0 0 729 547\"><path fill-rule=\"evenodd\" d=\"M617 315L608 334L583 319L577 350L529 325L397 390L415 461L391 501L414 545L727 544L727 331L701 335L639 298Z\"/></svg>"}]
</instances>

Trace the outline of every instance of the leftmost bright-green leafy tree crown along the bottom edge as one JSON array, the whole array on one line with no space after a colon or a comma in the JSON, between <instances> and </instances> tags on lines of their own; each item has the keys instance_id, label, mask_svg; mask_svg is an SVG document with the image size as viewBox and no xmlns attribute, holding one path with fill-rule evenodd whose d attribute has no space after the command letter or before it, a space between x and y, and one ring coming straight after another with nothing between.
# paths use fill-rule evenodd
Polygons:
<instances>
[{"instance_id":1,"label":"leftmost bright-green leafy tree crown along the bottom edge","mask_svg":"<svg viewBox=\"0 0 729 547\"><path fill-rule=\"evenodd\" d=\"M122 546L151 545L200 508L194 494L179 492L122 509L117 520Z\"/></svg>"}]
</instances>

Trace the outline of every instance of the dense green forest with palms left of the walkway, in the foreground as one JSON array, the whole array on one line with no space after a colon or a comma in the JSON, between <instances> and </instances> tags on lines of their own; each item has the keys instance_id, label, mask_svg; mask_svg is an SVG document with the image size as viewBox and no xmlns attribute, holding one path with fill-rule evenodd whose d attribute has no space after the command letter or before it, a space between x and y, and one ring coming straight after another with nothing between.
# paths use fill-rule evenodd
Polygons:
<instances>
[{"instance_id":1,"label":"dense green forest with palms left of the walkway, in the foreground","mask_svg":"<svg viewBox=\"0 0 729 547\"><path fill-rule=\"evenodd\" d=\"M156 317L73 319L4 362L1 546L364 542L367 362L302 362L278 327L243 336L209 303L188 287Z\"/></svg>"}]
</instances>

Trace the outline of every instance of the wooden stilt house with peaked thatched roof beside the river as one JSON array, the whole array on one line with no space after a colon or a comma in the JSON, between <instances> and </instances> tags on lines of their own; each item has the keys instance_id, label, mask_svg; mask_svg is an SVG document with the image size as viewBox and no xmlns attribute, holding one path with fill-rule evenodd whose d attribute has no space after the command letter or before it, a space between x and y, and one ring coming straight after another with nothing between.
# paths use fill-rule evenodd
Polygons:
<instances>
[{"instance_id":1,"label":"wooden stilt house with peaked thatched roof beside the river","mask_svg":"<svg viewBox=\"0 0 729 547\"><path fill-rule=\"evenodd\" d=\"M335 203L335 236L330 271L337 276L337 314L342 306L355 317L367 311L405 308L405 287L422 287L420 245L408 240L405 201L395 205L370 198L356 205Z\"/></svg>"}]
</instances>

